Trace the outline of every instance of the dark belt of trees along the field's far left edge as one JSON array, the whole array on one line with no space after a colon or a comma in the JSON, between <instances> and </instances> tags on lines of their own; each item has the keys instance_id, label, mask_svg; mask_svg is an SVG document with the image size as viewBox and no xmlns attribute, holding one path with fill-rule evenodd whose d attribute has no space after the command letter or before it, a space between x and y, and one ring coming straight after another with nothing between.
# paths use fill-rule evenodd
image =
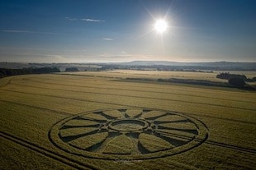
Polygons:
<instances>
[{"instance_id":1,"label":"dark belt of trees along the field's far left edge","mask_svg":"<svg viewBox=\"0 0 256 170\"><path fill-rule=\"evenodd\" d=\"M0 68L0 78L6 76L17 76L26 74L47 74L52 72L60 72L57 67L41 67L41 68L22 68L22 69L9 69Z\"/></svg>"}]
</instances>

